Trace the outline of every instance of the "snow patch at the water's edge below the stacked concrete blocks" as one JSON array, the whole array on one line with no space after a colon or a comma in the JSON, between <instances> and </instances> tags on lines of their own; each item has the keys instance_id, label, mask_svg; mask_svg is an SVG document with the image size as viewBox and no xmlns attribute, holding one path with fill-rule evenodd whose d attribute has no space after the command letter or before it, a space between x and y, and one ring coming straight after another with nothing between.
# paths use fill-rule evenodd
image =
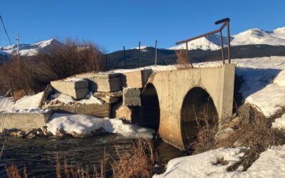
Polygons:
<instances>
[{"instance_id":1,"label":"snow patch at the water's edge below the stacked concrete blocks","mask_svg":"<svg viewBox=\"0 0 285 178\"><path fill-rule=\"evenodd\" d=\"M152 137L152 133L155 132L152 129L139 127L138 125L125 124L122 120L66 113L54 113L47 126L53 135L56 135L56 131L60 129L83 135L90 135L92 131L103 129L105 132L132 137Z\"/></svg>"}]
</instances>

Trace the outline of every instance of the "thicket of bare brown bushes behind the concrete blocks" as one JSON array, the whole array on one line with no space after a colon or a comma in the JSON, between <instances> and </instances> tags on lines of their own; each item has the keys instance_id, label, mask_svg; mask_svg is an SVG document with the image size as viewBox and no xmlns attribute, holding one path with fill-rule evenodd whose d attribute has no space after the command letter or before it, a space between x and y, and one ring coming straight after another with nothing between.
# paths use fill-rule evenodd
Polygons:
<instances>
[{"instance_id":1,"label":"thicket of bare brown bushes behind the concrete blocks","mask_svg":"<svg viewBox=\"0 0 285 178\"><path fill-rule=\"evenodd\" d=\"M67 40L37 56L21 57L20 63L13 56L0 66L0 95L12 87L18 99L43 90L51 80L101 70L105 70L105 58L95 45Z\"/></svg>"}]
</instances>

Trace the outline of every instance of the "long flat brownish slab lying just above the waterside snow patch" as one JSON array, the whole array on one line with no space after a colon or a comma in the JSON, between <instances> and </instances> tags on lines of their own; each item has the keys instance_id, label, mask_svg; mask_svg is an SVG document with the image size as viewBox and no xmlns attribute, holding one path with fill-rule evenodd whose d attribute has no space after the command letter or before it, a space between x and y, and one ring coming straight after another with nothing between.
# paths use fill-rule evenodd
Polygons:
<instances>
[{"instance_id":1,"label":"long flat brownish slab lying just above the waterside snow patch","mask_svg":"<svg viewBox=\"0 0 285 178\"><path fill-rule=\"evenodd\" d=\"M110 117L110 104L104 103L97 104L58 104L49 105L49 109L56 110L57 112L69 112L81 115L93 115L95 117Z\"/></svg>"}]
</instances>

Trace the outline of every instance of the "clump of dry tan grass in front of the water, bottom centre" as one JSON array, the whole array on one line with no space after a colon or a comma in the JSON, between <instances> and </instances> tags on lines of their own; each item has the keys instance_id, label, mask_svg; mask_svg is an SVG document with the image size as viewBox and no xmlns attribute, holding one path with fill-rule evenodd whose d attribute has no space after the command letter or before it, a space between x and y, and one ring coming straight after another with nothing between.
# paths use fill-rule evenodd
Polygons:
<instances>
[{"instance_id":1,"label":"clump of dry tan grass in front of the water, bottom centre","mask_svg":"<svg viewBox=\"0 0 285 178\"><path fill-rule=\"evenodd\" d=\"M118 149L117 149L118 152ZM120 154L113 162L113 177L152 177L155 154L150 140L138 140L130 152Z\"/></svg>"}]
</instances>

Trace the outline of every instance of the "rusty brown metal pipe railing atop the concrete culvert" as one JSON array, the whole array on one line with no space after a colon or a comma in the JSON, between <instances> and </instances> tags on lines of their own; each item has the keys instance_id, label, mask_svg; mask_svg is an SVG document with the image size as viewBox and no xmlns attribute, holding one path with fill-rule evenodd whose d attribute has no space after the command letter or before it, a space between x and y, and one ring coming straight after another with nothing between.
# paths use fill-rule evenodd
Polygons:
<instances>
[{"instance_id":1,"label":"rusty brown metal pipe railing atop the concrete culvert","mask_svg":"<svg viewBox=\"0 0 285 178\"><path fill-rule=\"evenodd\" d=\"M210 31L209 33L204 33L204 34L199 35L199 36L195 36L193 38L188 38L188 39L185 39L185 40L182 40L182 41L178 41L176 43L176 45L182 44L182 43L186 43L186 53L187 53L186 56L187 56L187 60L189 61L190 65L192 66L192 68L193 68L193 65L192 65L192 62L190 60L190 56L189 56L189 52L188 52L188 42L196 40L198 38L202 38L202 37L205 37L205 36L212 35L214 33L219 33L219 36L221 38L222 61L223 61L223 64L225 63L224 62L224 41L223 41L223 37L222 37L222 30L224 29L225 26L227 26L227 55L228 55L229 63L231 63L231 44L230 44L230 36L229 36L229 21L230 21L229 18L216 21L215 22L216 25L218 25L219 23L223 23L222 26L219 29L217 29L215 31Z\"/></svg>"}]
</instances>

